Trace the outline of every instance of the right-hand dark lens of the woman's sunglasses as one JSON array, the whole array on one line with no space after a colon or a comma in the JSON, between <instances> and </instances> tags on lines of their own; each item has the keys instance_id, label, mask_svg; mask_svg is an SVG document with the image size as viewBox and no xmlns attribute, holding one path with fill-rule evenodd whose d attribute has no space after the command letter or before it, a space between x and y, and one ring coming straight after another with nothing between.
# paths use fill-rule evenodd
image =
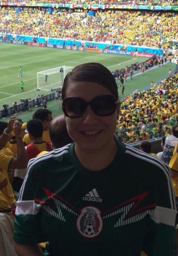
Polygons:
<instances>
[{"instance_id":1,"label":"right-hand dark lens of the woman's sunglasses","mask_svg":"<svg viewBox=\"0 0 178 256\"><path fill-rule=\"evenodd\" d=\"M116 110L114 95L100 95L92 101L92 109L98 116L112 115Z\"/></svg>"}]
</instances>

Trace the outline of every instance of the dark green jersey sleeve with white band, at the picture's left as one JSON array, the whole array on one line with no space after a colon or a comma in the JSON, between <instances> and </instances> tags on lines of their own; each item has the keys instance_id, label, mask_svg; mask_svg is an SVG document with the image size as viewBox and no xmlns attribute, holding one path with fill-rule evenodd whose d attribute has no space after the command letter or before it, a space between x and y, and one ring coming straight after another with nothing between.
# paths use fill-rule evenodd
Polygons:
<instances>
[{"instance_id":1,"label":"dark green jersey sleeve with white band, at the picture's left","mask_svg":"<svg viewBox=\"0 0 178 256\"><path fill-rule=\"evenodd\" d=\"M40 206L35 203L36 182L30 169L21 187L14 217L14 241L19 244L45 242Z\"/></svg>"}]
</instances>

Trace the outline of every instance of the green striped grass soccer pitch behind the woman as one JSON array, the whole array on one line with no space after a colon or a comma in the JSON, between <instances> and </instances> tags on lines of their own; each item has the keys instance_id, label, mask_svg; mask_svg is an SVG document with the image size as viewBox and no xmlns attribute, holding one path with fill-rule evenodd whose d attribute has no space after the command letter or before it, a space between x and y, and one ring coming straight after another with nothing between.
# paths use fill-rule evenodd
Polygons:
<instances>
[{"instance_id":1,"label":"green striped grass soccer pitch behind the woman","mask_svg":"<svg viewBox=\"0 0 178 256\"><path fill-rule=\"evenodd\" d=\"M45 81L44 85L40 86L40 92L36 91L38 71L60 66L75 67L84 62L99 62L114 71L148 59L129 55L80 52L7 43L1 43L0 49L0 109L4 104L12 106L14 101L20 103L20 99L34 99L37 93L48 94L49 86L45 84ZM22 78L18 77L20 66L23 70ZM24 92L21 92L21 81L24 83Z\"/></svg>"}]
</instances>

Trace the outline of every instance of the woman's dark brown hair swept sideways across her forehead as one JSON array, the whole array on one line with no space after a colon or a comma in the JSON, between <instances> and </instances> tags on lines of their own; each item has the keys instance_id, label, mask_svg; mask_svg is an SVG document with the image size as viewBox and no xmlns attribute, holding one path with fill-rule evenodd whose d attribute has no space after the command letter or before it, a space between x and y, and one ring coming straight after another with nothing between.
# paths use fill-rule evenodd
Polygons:
<instances>
[{"instance_id":1,"label":"woman's dark brown hair swept sideways across her forehead","mask_svg":"<svg viewBox=\"0 0 178 256\"><path fill-rule=\"evenodd\" d=\"M111 71L96 62L83 63L69 72L64 78L62 100L65 99L66 87L70 82L95 82L107 88L118 100L117 84Z\"/></svg>"}]
</instances>

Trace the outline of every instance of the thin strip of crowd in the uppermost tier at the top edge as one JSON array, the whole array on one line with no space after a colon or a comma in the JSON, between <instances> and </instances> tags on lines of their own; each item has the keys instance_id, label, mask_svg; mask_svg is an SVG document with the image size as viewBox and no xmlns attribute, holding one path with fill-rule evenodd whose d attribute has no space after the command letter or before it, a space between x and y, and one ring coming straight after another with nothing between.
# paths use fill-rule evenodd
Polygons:
<instances>
[{"instance_id":1,"label":"thin strip of crowd in the uppermost tier at the top edge","mask_svg":"<svg viewBox=\"0 0 178 256\"><path fill-rule=\"evenodd\" d=\"M7 3L7 1L1 1L1 5L5 5ZM12 0L11 3L22 3L22 1L20 0ZM25 1L26 5L27 4L31 4L31 3L35 3L35 1ZM52 1L52 0L40 0L38 1L38 3L64 3L64 1L62 0L56 0L56 1ZM71 0L66 0L65 3L75 3L75 4L91 4L90 0L77 0L77 1L71 1ZM177 5L177 1L176 0L108 0L108 1L104 1L104 0L94 0L92 1L92 4L110 4L110 5L129 5L129 6L135 6L135 5L163 5L163 6L174 6Z\"/></svg>"}]
</instances>

